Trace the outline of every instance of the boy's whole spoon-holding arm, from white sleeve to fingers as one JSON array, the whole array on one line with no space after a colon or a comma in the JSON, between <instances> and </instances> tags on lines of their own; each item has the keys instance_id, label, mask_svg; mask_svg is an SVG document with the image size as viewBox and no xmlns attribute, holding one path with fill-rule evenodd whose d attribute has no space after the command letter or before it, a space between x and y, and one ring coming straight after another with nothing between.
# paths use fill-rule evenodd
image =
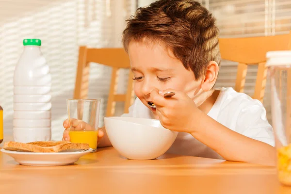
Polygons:
<instances>
[{"instance_id":1,"label":"boy's whole spoon-holding arm, from white sleeve to fingers","mask_svg":"<svg viewBox=\"0 0 291 194\"><path fill-rule=\"evenodd\" d=\"M161 95L170 91L176 93L171 99ZM237 126L232 130L199 110L187 94L172 89L164 90L161 94L153 90L151 99L157 107L161 124L166 129L192 134L228 161L275 165L273 131L261 104L247 103L248 105L233 107L240 114L225 115L228 119L236 119Z\"/></svg>"}]
</instances>

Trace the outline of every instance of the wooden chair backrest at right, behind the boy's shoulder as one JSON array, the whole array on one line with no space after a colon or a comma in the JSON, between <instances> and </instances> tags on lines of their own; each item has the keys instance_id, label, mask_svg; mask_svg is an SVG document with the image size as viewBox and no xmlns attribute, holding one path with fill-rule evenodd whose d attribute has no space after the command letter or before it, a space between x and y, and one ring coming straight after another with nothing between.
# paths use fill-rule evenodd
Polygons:
<instances>
[{"instance_id":1,"label":"wooden chair backrest at right, behind the boy's shoulder","mask_svg":"<svg viewBox=\"0 0 291 194\"><path fill-rule=\"evenodd\" d=\"M291 49L290 40L291 32L274 36L219 38L222 59L238 62L235 90L243 92L248 65L259 65L253 98L262 102L267 77L266 53Z\"/></svg>"}]
</instances>

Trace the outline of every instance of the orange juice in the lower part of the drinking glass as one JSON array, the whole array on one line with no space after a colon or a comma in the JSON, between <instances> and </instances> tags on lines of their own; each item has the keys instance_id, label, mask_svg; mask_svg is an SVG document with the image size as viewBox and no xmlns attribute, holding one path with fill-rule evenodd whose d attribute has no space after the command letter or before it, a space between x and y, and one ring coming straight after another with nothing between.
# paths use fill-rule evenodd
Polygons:
<instances>
[{"instance_id":1,"label":"orange juice in the lower part of the drinking glass","mask_svg":"<svg viewBox=\"0 0 291 194\"><path fill-rule=\"evenodd\" d=\"M70 141L73 143L86 143L93 150L97 148L97 130L71 130L69 131Z\"/></svg>"}]
</instances>

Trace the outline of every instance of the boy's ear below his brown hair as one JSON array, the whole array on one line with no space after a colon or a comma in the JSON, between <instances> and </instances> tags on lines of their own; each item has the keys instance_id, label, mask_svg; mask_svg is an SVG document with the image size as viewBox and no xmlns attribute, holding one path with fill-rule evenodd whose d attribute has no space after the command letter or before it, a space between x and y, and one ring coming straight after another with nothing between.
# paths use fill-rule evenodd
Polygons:
<instances>
[{"instance_id":1,"label":"boy's ear below his brown hair","mask_svg":"<svg viewBox=\"0 0 291 194\"><path fill-rule=\"evenodd\" d=\"M218 76L219 66L215 61L210 61L207 66L207 70L202 80L201 89L209 91L214 86Z\"/></svg>"}]
</instances>

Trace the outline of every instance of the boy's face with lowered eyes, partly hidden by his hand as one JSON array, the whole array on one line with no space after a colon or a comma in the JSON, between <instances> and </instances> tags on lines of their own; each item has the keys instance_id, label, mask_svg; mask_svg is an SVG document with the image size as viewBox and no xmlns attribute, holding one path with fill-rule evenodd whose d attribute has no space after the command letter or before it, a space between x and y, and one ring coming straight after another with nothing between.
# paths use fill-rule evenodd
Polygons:
<instances>
[{"instance_id":1,"label":"boy's face with lowered eyes, partly hidden by his hand","mask_svg":"<svg viewBox=\"0 0 291 194\"><path fill-rule=\"evenodd\" d=\"M191 98L200 90L201 79L195 81L194 73L185 69L173 52L167 51L162 44L130 41L128 52L135 95L154 114L156 110L147 104L152 101L152 90L174 89Z\"/></svg>"}]
</instances>

